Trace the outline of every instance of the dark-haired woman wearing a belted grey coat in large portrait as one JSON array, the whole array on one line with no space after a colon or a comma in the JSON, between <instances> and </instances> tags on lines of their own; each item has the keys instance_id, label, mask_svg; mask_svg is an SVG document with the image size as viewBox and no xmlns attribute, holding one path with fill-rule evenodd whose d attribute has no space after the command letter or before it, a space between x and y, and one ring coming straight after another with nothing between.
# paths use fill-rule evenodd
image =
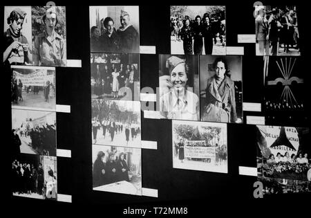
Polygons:
<instances>
[{"instance_id":1,"label":"dark-haired woman wearing a belted grey coat in large portrait","mask_svg":"<svg viewBox=\"0 0 311 218\"><path fill-rule=\"evenodd\" d=\"M206 105L203 106L202 121L238 122L234 82L229 78L227 61L217 57L213 68L215 75L207 80Z\"/></svg>"}]
</instances>

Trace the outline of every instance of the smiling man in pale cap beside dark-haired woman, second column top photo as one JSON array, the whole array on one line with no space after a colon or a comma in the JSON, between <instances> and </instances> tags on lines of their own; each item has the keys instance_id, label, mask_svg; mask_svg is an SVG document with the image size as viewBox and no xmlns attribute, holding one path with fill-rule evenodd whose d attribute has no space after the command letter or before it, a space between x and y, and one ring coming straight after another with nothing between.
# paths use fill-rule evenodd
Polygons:
<instances>
[{"instance_id":1,"label":"smiling man in pale cap beside dark-haired woman, second column top photo","mask_svg":"<svg viewBox=\"0 0 311 218\"><path fill-rule=\"evenodd\" d=\"M128 12L121 10L120 15L121 26L117 30L117 35L120 37L120 52L138 53L139 52L138 32L129 22L130 17Z\"/></svg>"}]
</instances>

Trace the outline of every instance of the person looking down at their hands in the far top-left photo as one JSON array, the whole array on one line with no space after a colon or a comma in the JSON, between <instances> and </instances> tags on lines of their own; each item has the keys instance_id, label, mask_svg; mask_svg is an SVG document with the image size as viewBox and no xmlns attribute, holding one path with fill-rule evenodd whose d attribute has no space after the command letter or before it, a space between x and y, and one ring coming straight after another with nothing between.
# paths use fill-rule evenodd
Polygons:
<instances>
[{"instance_id":1,"label":"person looking down at their hands in the far top-left photo","mask_svg":"<svg viewBox=\"0 0 311 218\"><path fill-rule=\"evenodd\" d=\"M3 63L10 68L10 64L30 64L31 51L26 37L21 33L26 12L15 8L10 12L7 23L10 26L3 34Z\"/></svg>"}]
</instances>

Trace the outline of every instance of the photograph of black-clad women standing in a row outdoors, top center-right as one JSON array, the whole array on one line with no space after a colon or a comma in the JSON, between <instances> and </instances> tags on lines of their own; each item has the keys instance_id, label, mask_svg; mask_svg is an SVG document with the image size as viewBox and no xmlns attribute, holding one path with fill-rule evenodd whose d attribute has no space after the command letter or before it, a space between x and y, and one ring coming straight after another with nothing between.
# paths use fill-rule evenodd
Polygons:
<instances>
[{"instance_id":1,"label":"photograph of black-clad women standing in a row outdoors, top center-right","mask_svg":"<svg viewBox=\"0 0 311 218\"><path fill-rule=\"evenodd\" d=\"M225 6L171 6L171 54L226 55Z\"/></svg>"}]
</instances>

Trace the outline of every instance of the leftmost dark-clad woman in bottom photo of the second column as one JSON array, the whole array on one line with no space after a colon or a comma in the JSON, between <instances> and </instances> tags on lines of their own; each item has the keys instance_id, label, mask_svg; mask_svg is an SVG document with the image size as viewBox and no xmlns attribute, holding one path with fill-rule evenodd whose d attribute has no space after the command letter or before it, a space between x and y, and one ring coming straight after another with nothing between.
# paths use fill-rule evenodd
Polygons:
<instances>
[{"instance_id":1,"label":"leftmost dark-clad woman in bottom photo of the second column","mask_svg":"<svg viewBox=\"0 0 311 218\"><path fill-rule=\"evenodd\" d=\"M93 163L93 187L106 183L106 166L104 163L105 153L100 151Z\"/></svg>"}]
</instances>

